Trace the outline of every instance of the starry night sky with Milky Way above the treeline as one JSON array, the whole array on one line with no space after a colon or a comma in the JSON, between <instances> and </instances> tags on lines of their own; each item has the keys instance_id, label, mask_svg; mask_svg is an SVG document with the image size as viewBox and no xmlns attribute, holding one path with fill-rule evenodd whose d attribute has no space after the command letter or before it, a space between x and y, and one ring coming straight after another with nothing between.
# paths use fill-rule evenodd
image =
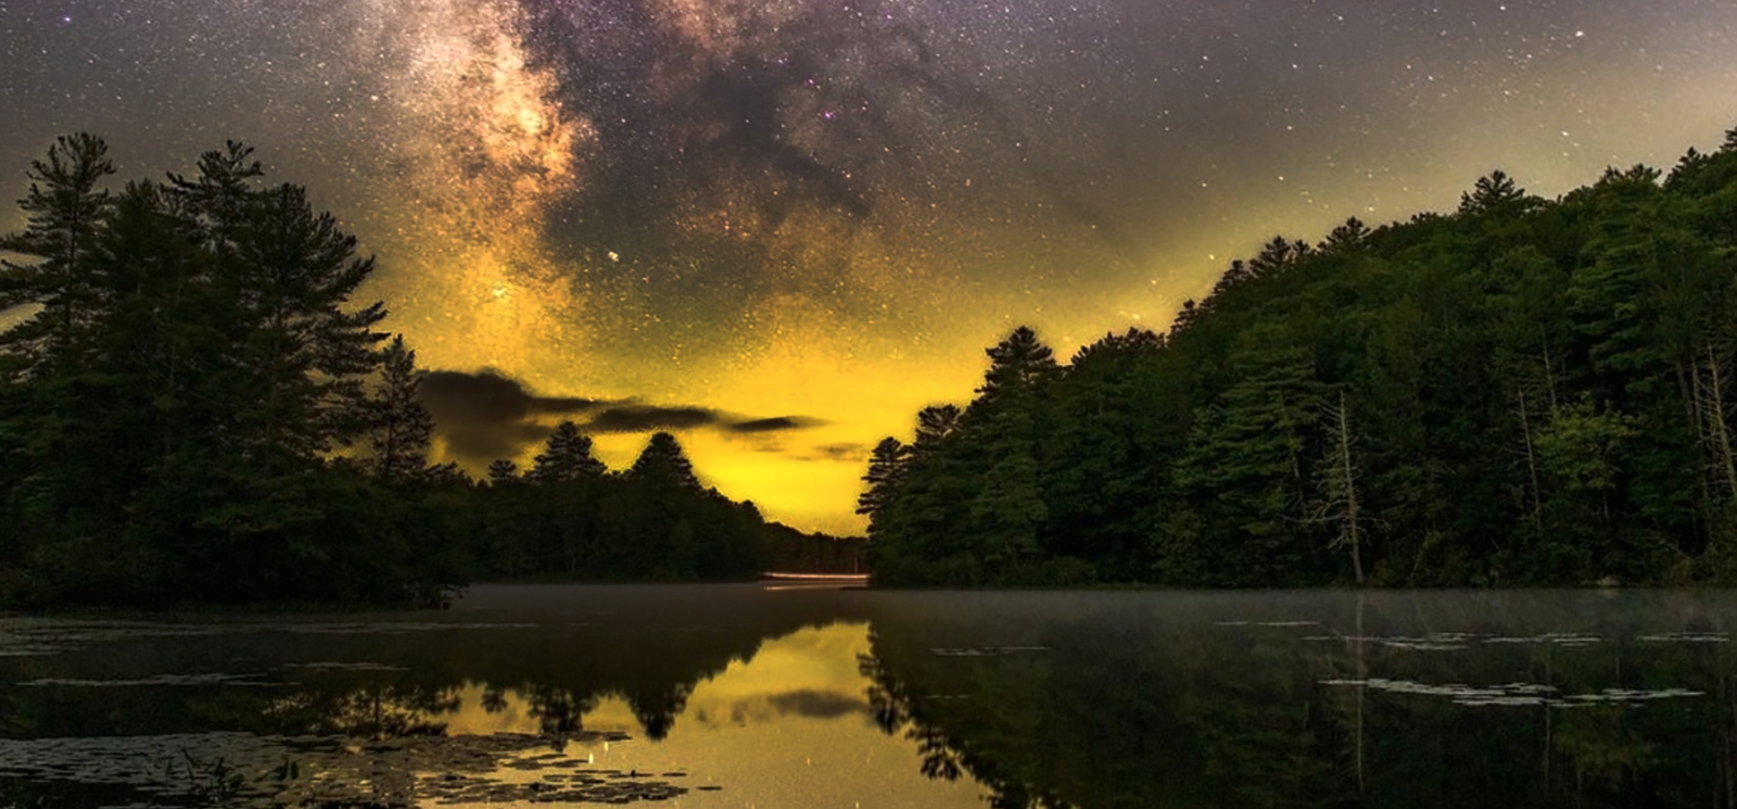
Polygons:
<instances>
[{"instance_id":1,"label":"starry night sky with Milky Way above the treeline","mask_svg":"<svg viewBox=\"0 0 1737 809\"><path fill-rule=\"evenodd\" d=\"M839 533L1016 325L1067 358L1273 234L1734 125L1730 0L0 0L9 200L57 134L245 141L379 257L441 458L667 429Z\"/></svg>"}]
</instances>

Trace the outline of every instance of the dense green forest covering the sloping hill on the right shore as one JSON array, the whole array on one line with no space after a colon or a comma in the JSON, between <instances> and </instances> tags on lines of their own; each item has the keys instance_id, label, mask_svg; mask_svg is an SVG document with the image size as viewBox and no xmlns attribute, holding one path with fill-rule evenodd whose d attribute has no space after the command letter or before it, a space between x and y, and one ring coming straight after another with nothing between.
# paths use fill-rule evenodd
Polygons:
<instances>
[{"instance_id":1,"label":"dense green forest covering the sloping hill on the right shore","mask_svg":"<svg viewBox=\"0 0 1737 809\"><path fill-rule=\"evenodd\" d=\"M1167 333L990 347L974 399L875 446L874 580L1728 585L1734 283L1737 130L1273 238Z\"/></svg>"}]
</instances>

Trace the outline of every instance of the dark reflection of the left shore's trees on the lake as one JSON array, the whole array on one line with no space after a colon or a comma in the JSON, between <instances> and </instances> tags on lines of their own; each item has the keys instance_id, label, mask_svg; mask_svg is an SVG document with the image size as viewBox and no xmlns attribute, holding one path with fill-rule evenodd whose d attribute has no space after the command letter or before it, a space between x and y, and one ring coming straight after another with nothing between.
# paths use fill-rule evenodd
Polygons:
<instances>
[{"instance_id":1,"label":"dark reflection of the left shore's trees on the lake","mask_svg":"<svg viewBox=\"0 0 1737 809\"><path fill-rule=\"evenodd\" d=\"M486 590L486 589L483 589ZM398 736L443 733L441 715L479 687L479 707L499 714L523 694L537 731L582 731L603 698L629 701L644 736L667 736L695 684L766 639L837 620L863 620L860 594L764 594L728 587L502 589L493 627L438 628L410 616L406 628L292 625L288 632L141 637L92 649L89 660L0 656L0 684L59 675L151 677L165 670L245 660L238 674L273 672L287 687L179 687L139 700L132 689L0 687L0 729L56 734L247 731L257 734ZM518 601L509 601L518 599ZM450 620L455 613L445 613ZM394 616L396 620L403 620ZM474 618L471 618L474 620ZM215 663L214 663L215 661ZM339 661L307 665L307 661ZM344 663L356 661L356 663Z\"/></svg>"}]
</instances>

